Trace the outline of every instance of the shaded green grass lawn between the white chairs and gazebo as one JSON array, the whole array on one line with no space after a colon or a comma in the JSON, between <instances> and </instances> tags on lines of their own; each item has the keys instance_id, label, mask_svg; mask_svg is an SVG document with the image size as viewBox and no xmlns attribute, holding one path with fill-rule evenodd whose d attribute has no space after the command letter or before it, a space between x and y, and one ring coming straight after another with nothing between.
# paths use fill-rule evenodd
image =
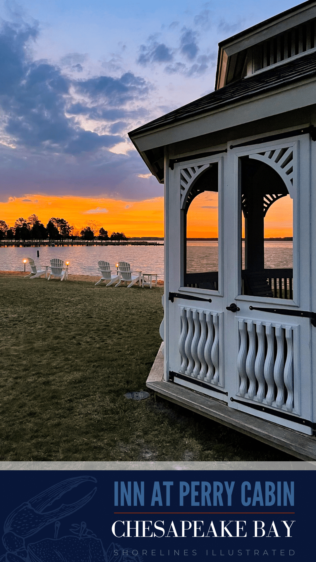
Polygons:
<instances>
[{"instance_id":1,"label":"shaded green grass lawn between the white chairs and gazebo","mask_svg":"<svg viewBox=\"0 0 316 562\"><path fill-rule=\"evenodd\" d=\"M0 460L292 460L146 389L163 289L0 277Z\"/></svg>"}]
</instances>

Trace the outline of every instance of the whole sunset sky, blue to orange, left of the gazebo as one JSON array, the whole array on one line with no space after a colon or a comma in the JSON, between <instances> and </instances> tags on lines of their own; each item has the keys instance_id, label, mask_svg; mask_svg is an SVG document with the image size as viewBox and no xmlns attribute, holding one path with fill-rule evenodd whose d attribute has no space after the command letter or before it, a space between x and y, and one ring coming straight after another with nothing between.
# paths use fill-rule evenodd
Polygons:
<instances>
[{"instance_id":1,"label":"whole sunset sky, blue to orange, left of the gazebo","mask_svg":"<svg viewBox=\"0 0 316 562\"><path fill-rule=\"evenodd\" d=\"M295 4L1 2L0 220L162 236L163 186L128 131L211 92L218 42Z\"/></svg>"}]
</instances>

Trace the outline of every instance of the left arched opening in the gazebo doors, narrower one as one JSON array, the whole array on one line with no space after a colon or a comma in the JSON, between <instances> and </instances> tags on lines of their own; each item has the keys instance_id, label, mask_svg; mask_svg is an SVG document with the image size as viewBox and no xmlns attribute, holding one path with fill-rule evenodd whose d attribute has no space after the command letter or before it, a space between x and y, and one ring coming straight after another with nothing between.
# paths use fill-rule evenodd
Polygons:
<instances>
[{"instance_id":1,"label":"left arched opening in the gazebo doors, narrower one","mask_svg":"<svg viewBox=\"0 0 316 562\"><path fill-rule=\"evenodd\" d=\"M201 173L183 213L184 287L218 291L218 164Z\"/></svg>"}]
</instances>

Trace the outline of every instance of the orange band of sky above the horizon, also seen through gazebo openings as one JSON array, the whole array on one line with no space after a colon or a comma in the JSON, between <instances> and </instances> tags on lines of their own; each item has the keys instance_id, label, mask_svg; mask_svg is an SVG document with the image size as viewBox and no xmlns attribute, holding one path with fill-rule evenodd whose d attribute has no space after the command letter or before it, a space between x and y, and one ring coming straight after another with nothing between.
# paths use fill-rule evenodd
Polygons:
<instances>
[{"instance_id":1,"label":"orange band of sky above the horizon, also seen through gazebo openings","mask_svg":"<svg viewBox=\"0 0 316 562\"><path fill-rule=\"evenodd\" d=\"M188 238L218 237L217 193L204 192L192 201L187 216ZM57 197L38 194L10 197L0 202L0 220L13 226L19 217L35 214L46 225L51 217L63 218L82 230L89 220L109 232L133 236L164 236L164 199L123 201L92 197ZM291 237L292 200L289 196L273 203L265 217L265 238Z\"/></svg>"}]
</instances>

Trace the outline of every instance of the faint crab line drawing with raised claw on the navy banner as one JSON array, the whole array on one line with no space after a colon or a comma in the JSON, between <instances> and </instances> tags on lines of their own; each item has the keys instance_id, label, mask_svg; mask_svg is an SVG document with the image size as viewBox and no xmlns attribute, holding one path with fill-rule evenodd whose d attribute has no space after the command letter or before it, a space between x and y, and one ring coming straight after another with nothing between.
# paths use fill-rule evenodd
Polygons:
<instances>
[{"instance_id":1,"label":"faint crab line drawing with raised claw on the navy banner","mask_svg":"<svg viewBox=\"0 0 316 562\"><path fill-rule=\"evenodd\" d=\"M94 487L84 497L73 504L62 504L55 510L44 511L66 492L86 482L96 483L92 476L68 478L51 488L34 496L11 511L4 522L2 537L6 554L0 556L0 562L141 562L139 556L125 554L119 546L111 543L107 551L102 541L96 537L87 524L82 521L73 523L69 531L73 533L58 538L60 519L75 513L88 503L96 493ZM25 539L38 533L50 523L55 522L55 537L44 538L25 545ZM117 554L116 554L117 553Z\"/></svg>"}]
</instances>

